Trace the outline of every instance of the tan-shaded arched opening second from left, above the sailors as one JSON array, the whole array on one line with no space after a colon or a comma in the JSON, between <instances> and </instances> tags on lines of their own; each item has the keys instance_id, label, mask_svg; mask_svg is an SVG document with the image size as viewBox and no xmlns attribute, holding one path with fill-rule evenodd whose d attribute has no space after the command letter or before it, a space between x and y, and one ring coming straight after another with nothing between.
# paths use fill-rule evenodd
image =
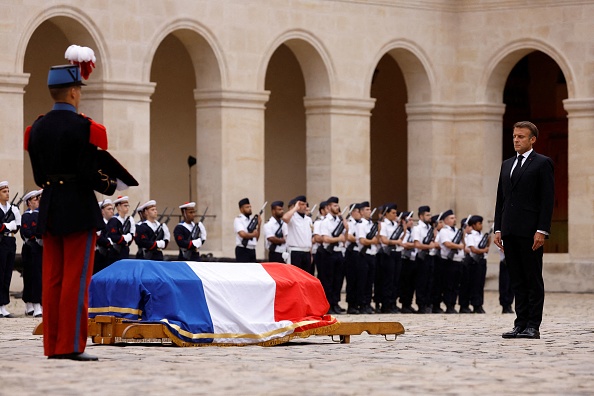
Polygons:
<instances>
[{"instance_id":1,"label":"tan-shaded arched opening second from left, above the sailors","mask_svg":"<svg viewBox=\"0 0 594 396\"><path fill-rule=\"evenodd\" d=\"M169 34L155 52L151 81L150 198L160 210L197 200L196 168L196 77L192 59L174 34ZM190 188L191 186L191 188Z\"/></svg>"}]
</instances>

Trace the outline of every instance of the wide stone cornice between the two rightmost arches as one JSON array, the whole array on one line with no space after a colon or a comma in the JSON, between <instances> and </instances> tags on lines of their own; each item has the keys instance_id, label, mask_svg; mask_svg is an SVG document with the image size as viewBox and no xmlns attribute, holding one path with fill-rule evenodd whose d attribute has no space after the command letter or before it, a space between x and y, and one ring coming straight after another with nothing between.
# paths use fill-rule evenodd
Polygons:
<instances>
[{"instance_id":1,"label":"wide stone cornice between the two rightmost arches","mask_svg":"<svg viewBox=\"0 0 594 396\"><path fill-rule=\"evenodd\" d=\"M505 105L500 103L409 103L409 121L501 121Z\"/></svg>"}]
</instances>

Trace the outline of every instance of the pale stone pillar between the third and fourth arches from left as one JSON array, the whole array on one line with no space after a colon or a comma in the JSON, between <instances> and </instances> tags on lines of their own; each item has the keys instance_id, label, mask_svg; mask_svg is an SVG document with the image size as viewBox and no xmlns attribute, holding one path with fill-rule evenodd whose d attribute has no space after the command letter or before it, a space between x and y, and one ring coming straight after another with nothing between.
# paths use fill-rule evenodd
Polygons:
<instances>
[{"instance_id":1,"label":"pale stone pillar between the third and fourth arches from left","mask_svg":"<svg viewBox=\"0 0 594 396\"><path fill-rule=\"evenodd\" d=\"M368 200L370 116L375 99L305 98L307 197L310 205L338 196Z\"/></svg>"}]
</instances>

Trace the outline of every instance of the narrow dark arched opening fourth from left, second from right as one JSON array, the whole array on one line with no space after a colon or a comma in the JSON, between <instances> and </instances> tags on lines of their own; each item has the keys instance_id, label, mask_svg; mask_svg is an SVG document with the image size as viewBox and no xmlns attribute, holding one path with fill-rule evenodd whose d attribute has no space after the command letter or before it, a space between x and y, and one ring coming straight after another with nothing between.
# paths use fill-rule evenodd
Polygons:
<instances>
[{"instance_id":1,"label":"narrow dark arched opening fourth from left, second from right","mask_svg":"<svg viewBox=\"0 0 594 396\"><path fill-rule=\"evenodd\" d=\"M387 202L408 208L408 129L407 91L398 63L384 55L373 74L371 97L371 200L374 205Z\"/></svg>"}]
</instances>

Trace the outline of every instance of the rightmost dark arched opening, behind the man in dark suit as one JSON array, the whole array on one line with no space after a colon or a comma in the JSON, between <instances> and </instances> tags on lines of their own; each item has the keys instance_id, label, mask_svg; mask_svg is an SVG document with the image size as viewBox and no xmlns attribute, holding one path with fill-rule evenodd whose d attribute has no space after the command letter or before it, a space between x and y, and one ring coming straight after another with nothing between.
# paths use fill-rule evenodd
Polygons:
<instances>
[{"instance_id":1,"label":"rightmost dark arched opening, behind the man in dark suit","mask_svg":"<svg viewBox=\"0 0 594 396\"><path fill-rule=\"evenodd\" d=\"M568 146L567 82L559 65L534 51L521 58L507 77L503 92L502 155L515 155L511 131L517 121L531 121L539 129L535 150L555 162L555 208L546 253L568 252Z\"/></svg>"}]
</instances>

